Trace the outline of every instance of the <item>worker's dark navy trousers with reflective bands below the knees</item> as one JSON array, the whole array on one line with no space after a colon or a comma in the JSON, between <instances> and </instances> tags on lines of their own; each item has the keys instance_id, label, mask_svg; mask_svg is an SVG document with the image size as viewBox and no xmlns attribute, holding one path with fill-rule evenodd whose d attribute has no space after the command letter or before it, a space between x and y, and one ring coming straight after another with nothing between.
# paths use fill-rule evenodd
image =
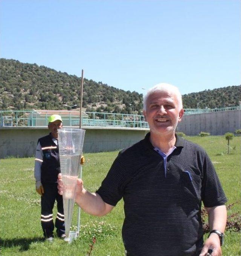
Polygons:
<instances>
[{"instance_id":1,"label":"worker's dark navy trousers with reflective bands below the knees","mask_svg":"<svg viewBox=\"0 0 241 256\"><path fill-rule=\"evenodd\" d=\"M61 237L61 235L65 233L63 197L59 195L57 185L57 183L43 184L44 193L43 196L41 196L41 225L46 238L53 236L53 206L55 200L57 201L58 210L55 219L56 233L58 237Z\"/></svg>"}]
</instances>

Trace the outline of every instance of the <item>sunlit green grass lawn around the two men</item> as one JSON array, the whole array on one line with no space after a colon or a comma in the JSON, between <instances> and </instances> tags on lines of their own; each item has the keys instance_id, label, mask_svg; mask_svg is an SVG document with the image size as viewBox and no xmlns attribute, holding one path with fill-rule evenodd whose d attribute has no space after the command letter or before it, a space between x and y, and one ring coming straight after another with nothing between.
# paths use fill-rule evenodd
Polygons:
<instances>
[{"instance_id":1,"label":"sunlit green grass lawn around the two men","mask_svg":"<svg viewBox=\"0 0 241 256\"><path fill-rule=\"evenodd\" d=\"M235 137L227 155L222 136L186 137L206 149L229 199L228 204L240 200L240 137ZM86 189L94 192L111 166L116 152L85 154L83 180ZM34 158L8 158L0 160L0 255L88 255L90 237L96 236L92 256L122 256L124 246L121 228L124 219L123 201L102 218L81 212L81 236L72 244L61 239L53 243L44 241L40 224L40 197L35 192ZM56 207L55 207L56 208ZM241 210L235 204L231 213ZM75 205L72 225L77 224ZM56 209L54 212L56 216ZM240 256L241 234L226 232L224 256Z\"/></svg>"}]
</instances>

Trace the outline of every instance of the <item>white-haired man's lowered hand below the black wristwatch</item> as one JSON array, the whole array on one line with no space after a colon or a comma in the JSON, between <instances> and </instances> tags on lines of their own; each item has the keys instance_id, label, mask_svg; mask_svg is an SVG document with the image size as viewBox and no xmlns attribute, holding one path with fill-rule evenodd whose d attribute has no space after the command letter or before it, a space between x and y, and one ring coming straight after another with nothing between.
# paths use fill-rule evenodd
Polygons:
<instances>
[{"instance_id":1,"label":"white-haired man's lowered hand below the black wristwatch","mask_svg":"<svg viewBox=\"0 0 241 256\"><path fill-rule=\"evenodd\" d=\"M211 249L212 254L206 254L207 251ZM212 233L209 238L205 241L203 248L201 250L201 253L199 256L206 256L206 255L211 255L211 256L221 256L222 251L221 251L221 246L220 246L220 239L217 234Z\"/></svg>"}]
</instances>

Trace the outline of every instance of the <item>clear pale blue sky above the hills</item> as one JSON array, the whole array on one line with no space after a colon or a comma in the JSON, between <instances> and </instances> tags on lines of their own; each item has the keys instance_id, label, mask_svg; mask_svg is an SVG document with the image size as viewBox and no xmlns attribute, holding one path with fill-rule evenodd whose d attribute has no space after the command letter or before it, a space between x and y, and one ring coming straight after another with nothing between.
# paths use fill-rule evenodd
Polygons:
<instances>
[{"instance_id":1,"label":"clear pale blue sky above the hills","mask_svg":"<svg viewBox=\"0 0 241 256\"><path fill-rule=\"evenodd\" d=\"M239 85L239 0L0 0L0 57L145 93Z\"/></svg>"}]
</instances>

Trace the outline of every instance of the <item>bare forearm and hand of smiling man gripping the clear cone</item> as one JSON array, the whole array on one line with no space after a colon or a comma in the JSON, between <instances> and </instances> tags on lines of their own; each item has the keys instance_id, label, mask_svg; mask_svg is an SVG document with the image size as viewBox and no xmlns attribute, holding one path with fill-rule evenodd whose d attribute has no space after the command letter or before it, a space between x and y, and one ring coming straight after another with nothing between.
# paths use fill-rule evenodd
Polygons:
<instances>
[{"instance_id":1,"label":"bare forearm and hand of smiling man gripping the clear cone","mask_svg":"<svg viewBox=\"0 0 241 256\"><path fill-rule=\"evenodd\" d=\"M61 173L58 174L58 190L59 194L63 194L63 182ZM98 193L90 193L83 187L82 179L77 179L75 202L84 212L95 216L104 216L113 209L113 205L103 201Z\"/></svg>"}]
</instances>

